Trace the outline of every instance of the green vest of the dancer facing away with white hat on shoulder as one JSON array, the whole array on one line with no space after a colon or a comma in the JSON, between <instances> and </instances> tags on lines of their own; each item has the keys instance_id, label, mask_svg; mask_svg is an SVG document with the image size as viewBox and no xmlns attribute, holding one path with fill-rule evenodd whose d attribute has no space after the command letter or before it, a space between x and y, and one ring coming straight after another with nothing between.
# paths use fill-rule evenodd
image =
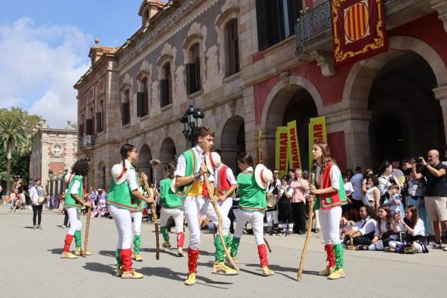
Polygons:
<instances>
[{"instance_id":1,"label":"green vest of the dancer facing away with white hat on shoulder","mask_svg":"<svg viewBox=\"0 0 447 298\"><path fill-rule=\"evenodd\" d=\"M237 180L239 197L241 197L239 209L245 211L265 211L267 209L267 199L265 199L267 189L262 189L258 186L253 171L239 173Z\"/></svg>"}]
</instances>

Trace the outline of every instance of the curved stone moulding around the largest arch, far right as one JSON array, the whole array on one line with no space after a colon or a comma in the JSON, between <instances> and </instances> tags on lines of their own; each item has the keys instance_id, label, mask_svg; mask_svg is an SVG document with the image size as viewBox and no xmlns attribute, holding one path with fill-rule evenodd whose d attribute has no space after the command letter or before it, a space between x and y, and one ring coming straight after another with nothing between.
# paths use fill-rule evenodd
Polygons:
<instances>
[{"instance_id":1,"label":"curved stone moulding around the largest arch, far right","mask_svg":"<svg viewBox=\"0 0 447 298\"><path fill-rule=\"evenodd\" d=\"M430 45L409 36L392 36L389 48L390 50L386 53L356 62L353 65L343 89L342 106L345 106L346 109L368 109L370 88L377 73L387 62L404 55L409 50L426 60L434 72L438 86L447 84L447 67L441 56Z\"/></svg>"}]
</instances>

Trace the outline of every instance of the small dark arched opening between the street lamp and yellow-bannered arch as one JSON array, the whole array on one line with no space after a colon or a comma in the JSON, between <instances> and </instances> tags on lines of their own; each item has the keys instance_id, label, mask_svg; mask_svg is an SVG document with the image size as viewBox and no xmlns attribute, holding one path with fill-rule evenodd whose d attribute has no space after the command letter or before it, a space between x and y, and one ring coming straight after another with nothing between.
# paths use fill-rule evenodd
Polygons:
<instances>
[{"instance_id":1,"label":"small dark arched opening between the street lamp and yellow-bannered arch","mask_svg":"<svg viewBox=\"0 0 447 298\"><path fill-rule=\"evenodd\" d=\"M234 173L239 172L237 158L245 152L245 126L241 116L232 116L226 121L221 134L221 159L231 167Z\"/></svg>"}]
</instances>

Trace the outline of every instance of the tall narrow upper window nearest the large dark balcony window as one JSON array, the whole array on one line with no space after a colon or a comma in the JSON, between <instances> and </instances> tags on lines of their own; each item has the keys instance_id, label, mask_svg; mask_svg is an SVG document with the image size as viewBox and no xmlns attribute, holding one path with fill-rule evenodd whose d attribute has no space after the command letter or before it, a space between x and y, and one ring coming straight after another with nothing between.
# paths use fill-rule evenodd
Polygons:
<instances>
[{"instance_id":1,"label":"tall narrow upper window nearest the large dark balcony window","mask_svg":"<svg viewBox=\"0 0 447 298\"><path fill-rule=\"evenodd\" d=\"M234 75L239 72L239 39L238 20L234 18L225 27L226 39L226 75Z\"/></svg>"}]
</instances>

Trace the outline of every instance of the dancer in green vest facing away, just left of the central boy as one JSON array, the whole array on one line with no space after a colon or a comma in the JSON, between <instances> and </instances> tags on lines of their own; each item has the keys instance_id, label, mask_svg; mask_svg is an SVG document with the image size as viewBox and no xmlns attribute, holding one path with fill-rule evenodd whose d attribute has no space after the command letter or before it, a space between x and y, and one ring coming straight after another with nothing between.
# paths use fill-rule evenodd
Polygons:
<instances>
[{"instance_id":1,"label":"dancer in green vest facing away, just left of the central boy","mask_svg":"<svg viewBox=\"0 0 447 298\"><path fill-rule=\"evenodd\" d=\"M177 165L170 162L165 165L165 179L160 181L160 226L163 236L162 247L170 248L169 234L167 232L167 219L172 216L175 222L175 231L177 233L177 255L183 257L184 231L183 221L184 214L182 210L182 201L175 193L174 172Z\"/></svg>"}]
</instances>

